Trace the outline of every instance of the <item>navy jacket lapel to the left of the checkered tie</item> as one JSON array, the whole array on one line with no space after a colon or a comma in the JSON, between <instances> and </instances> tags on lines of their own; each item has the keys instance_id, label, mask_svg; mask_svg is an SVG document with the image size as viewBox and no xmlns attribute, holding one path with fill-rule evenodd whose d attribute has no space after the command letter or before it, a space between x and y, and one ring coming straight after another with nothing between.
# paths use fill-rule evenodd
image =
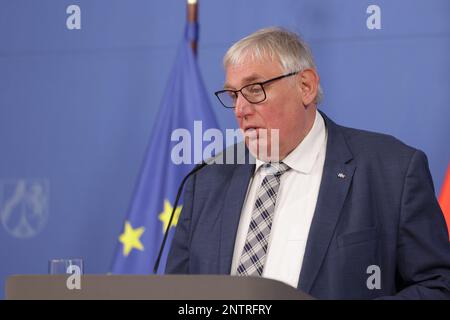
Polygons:
<instances>
[{"instance_id":1,"label":"navy jacket lapel to the left of the checkered tie","mask_svg":"<svg viewBox=\"0 0 450 320\"><path fill-rule=\"evenodd\" d=\"M221 212L221 234L219 273L229 274L233 259L234 242L239 226L242 206L250 178L255 171L255 165L237 165L225 195L225 202Z\"/></svg>"}]
</instances>

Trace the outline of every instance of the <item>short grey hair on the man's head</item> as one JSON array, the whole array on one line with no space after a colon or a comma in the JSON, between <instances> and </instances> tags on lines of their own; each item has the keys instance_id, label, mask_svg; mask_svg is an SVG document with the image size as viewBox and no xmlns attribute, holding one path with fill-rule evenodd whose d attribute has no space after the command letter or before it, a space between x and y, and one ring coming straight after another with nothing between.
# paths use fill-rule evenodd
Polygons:
<instances>
[{"instance_id":1,"label":"short grey hair on the man's head","mask_svg":"<svg viewBox=\"0 0 450 320\"><path fill-rule=\"evenodd\" d=\"M223 58L225 69L251 57L253 60L270 57L278 60L285 72L317 70L308 45L294 32L280 27L260 29L233 44ZM316 104L323 99L322 87L319 84Z\"/></svg>"}]
</instances>

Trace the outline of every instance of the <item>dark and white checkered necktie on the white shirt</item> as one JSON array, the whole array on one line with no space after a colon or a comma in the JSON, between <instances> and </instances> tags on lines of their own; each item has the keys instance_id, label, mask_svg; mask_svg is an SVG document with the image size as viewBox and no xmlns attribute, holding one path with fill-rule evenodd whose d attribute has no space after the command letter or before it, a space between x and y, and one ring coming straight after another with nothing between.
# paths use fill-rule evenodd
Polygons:
<instances>
[{"instance_id":1,"label":"dark and white checkered necktie on the white shirt","mask_svg":"<svg viewBox=\"0 0 450 320\"><path fill-rule=\"evenodd\" d=\"M263 165L263 169L268 174L264 177L256 194L252 221L237 268L237 274L241 276L260 276L263 272L280 178L290 168L283 162L279 162L267 163Z\"/></svg>"}]
</instances>

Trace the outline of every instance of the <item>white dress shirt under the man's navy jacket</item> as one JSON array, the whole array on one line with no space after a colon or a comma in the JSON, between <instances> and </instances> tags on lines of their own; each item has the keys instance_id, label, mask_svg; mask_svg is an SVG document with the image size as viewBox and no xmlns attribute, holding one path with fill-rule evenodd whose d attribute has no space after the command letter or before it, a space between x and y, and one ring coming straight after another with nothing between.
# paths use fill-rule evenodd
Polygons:
<instances>
[{"instance_id":1,"label":"white dress shirt under the man's navy jacket","mask_svg":"<svg viewBox=\"0 0 450 320\"><path fill-rule=\"evenodd\" d=\"M314 124L303 141L282 161L291 170L281 176L266 261L262 276L297 288L309 228L316 208L325 162L327 132L318 111ZM256 193L264 178L264 162L256 160L242 207L234 246L231 274L237 267L247 238Z\"/></svg>"}]
</instances>

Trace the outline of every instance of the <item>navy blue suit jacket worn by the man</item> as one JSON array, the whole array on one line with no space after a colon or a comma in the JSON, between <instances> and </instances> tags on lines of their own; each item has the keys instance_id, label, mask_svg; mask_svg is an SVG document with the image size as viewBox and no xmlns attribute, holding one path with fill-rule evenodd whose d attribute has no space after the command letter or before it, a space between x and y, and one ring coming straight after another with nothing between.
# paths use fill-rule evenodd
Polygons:
<instances>
[{"instance_id":1,"label":"navy blue suit jacket worn by the man","mask_svg":"<svg viewBox=\"0 0 450 320\"><path fill-rule=\"evenodd\" d=\"M298 289L320 299L450 298L450 244L425 154L322 115L326 158ZM167 273L230 273L254 168L213 164L189 179ZM371 265L380 289L367 286Z\"/></svg>"}]
</instances>

